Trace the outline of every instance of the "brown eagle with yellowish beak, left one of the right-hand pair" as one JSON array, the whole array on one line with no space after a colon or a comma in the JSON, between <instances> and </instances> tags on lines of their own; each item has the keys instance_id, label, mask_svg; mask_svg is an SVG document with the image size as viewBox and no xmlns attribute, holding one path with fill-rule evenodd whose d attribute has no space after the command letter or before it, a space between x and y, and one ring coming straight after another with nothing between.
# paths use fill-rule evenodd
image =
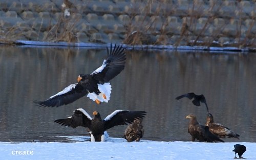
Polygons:
<instances>
[{"instance_id":1,"label":"brown eagle with yellowish beak, left one of the right-hand pair","mask_svg":"<svg viewBox=\"0 0 256 160\"><path fill-rule=\"evenodd\" d=\"M191 141L195 142L195 140L199 140L199 142L215 142L223 140L219 139L218 136L212 134L209 131L208 126L203 126L197 122L197 117L194 114L190 114L186 116L186 119L190 119L188 125L188 133L191 135Z\"/></svg>"}]
</instances>

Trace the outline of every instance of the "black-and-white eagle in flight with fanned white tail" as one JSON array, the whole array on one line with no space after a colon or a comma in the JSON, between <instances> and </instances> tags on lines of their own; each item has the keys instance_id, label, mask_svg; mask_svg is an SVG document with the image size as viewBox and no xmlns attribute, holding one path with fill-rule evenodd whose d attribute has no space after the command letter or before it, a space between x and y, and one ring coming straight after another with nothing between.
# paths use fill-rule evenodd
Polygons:
<instances>
[{"instance_id":1,"label":"black-and-white eagle in flight with fanned white tail","mask_svg":"<svg viewBox=\"0 0 256 160\"><path fill-rule=\"evenodd\" d=\"M58 107L67 105L75 100L86 96L97 104L110 100L111 85L109 81L117 76L124 69L125 53L121 45L116 45L110 51L107 48L108 58L93 73L77 78L78 83L71 84L56 95L51 96L46 101L34 101L38 106Z\"/></svg>"}]
</instances>

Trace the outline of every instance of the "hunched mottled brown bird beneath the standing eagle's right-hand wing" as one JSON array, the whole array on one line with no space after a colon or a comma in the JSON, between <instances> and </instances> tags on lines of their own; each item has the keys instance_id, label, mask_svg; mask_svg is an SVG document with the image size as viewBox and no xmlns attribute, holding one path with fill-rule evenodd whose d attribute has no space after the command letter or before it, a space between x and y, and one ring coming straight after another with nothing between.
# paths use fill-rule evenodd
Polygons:
<instances>
[{"instance_id":1,"label":"hunched mottled brown bird beneath the standing eagle's right-hand wing","mask_svg":"<svg viewBox=\"0 0 256 160\"><path fill-rule=\"evenodd\" d=\"M132 124L129 124L124 132L124 139L127 142L139 142L144 134L144 129L142 126L142 119L136 119Z\"/></svg>"}]
</instances>

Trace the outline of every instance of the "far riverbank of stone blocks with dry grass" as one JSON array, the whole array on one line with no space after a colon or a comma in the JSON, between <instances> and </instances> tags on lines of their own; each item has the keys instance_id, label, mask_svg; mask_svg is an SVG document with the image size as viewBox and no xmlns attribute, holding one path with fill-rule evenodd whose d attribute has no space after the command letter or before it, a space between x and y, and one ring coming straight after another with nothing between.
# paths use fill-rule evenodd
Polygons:
<instances>
[{"instance_id":1,"label":"far riverbank of stone blocks with dry grass","mask_svg":"<svg viewBox=\"0 0 256 160\"><path fill-rule=\"evenodd\" d=\"M0 1L0 42L256 47L254 1Z\"/></svg>"}]
</instances>

